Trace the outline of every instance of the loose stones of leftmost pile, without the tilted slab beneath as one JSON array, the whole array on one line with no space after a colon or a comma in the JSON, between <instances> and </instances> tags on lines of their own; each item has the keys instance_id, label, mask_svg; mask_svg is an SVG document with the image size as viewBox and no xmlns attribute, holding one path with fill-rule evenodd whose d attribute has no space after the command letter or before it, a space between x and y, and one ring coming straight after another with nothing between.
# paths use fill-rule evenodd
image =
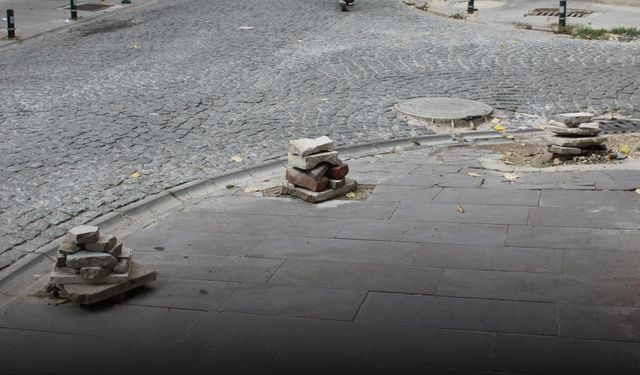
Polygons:
<instances>
[{"instance_id":1,"label":"loose stones of leftmost pile, without the tilted slab beneath","mask_svg":"<svg viewBox=\"0 0 640 375\"><path fill-rule=\"evenodd\" d=\"M129 280L133 259L131 249L98 227L81 225L67 234L58 247L56 263L51 270L51 283L109 284Z\"/></svg>"}]
</instances>

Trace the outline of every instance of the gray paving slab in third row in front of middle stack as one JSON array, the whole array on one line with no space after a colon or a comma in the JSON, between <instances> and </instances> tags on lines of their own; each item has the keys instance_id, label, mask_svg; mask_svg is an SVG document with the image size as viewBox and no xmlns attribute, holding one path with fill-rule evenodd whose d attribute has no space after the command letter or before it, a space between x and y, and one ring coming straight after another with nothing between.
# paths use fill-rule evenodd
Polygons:
<instances>
[{"instance_id":1,"label":"gray paving slab in third row in front of middle stack","mask_svg":"<svg viewBox=\"0 0 640 375\"><path fill-rule=\"evenodd\" d=\"M336 262L409 265L420 244L328 238L266 238L248 255Z\"/></svg>"}]
</instances>

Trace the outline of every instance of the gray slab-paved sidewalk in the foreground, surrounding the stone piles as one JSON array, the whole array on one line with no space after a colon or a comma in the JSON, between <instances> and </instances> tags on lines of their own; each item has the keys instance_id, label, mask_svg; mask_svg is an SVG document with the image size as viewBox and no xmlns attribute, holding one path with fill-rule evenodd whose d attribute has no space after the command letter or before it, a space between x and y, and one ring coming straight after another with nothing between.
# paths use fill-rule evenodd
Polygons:
<instances>
[{"instance_id":1,"label":"gray slab-paved sidewalk in the foreground, surrounding the stone piles","mask_svg":"<svg viewBox=\"0 0 640 375\"><path fill-rule=\"evenodd\" d=\"M366 201L251 192L282 167L181 196L125 238L159 279L119 304L14 274L0 373L638 374L638 168L507 182L474 147L393 151L348 161Z\"/></svg>"}]
</instances>

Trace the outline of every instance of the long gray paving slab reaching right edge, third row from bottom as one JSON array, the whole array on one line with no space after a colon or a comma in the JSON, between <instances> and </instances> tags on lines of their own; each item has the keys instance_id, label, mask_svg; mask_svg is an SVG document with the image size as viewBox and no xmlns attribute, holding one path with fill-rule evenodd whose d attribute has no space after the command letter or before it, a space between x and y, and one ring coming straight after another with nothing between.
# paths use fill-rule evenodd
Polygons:
<instances>
[{"instance_id":1,"label":"long gray paving slab reaching right edge, third row from bottom","mask_svg":"<svg viewBox=\"0 0 640 375\"><path fill-rule=\"evenodd\" d=\"M548 273L445 270L436 295L640 306L636 279L593 279Z\"/></svg>"}]
</instances>

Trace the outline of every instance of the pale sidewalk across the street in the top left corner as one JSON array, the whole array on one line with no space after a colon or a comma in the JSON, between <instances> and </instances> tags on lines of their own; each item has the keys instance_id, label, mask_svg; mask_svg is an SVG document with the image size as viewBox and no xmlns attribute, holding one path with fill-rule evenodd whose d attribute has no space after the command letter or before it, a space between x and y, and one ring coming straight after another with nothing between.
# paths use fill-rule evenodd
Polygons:
<instances>
[{"instance_id":1,"label":"pale sidewalk across the street in the top left corner","mask_svg":"<svg viewBox=\"0 0 640 375\"><path fill-rule=\"evenodd\" d=\"M0 47L15 43L16 40L24 40L45 32L72 27L105 14L131 9L152 1L154 0L133 0L131 4L121 4L120 0L76 1L76 5L80 9L78 10L78 20L73 21L70 19L68 0L0 0ZM7 39L7 9L14 11L16 40Z\"/></svg>"}]
</instances>

